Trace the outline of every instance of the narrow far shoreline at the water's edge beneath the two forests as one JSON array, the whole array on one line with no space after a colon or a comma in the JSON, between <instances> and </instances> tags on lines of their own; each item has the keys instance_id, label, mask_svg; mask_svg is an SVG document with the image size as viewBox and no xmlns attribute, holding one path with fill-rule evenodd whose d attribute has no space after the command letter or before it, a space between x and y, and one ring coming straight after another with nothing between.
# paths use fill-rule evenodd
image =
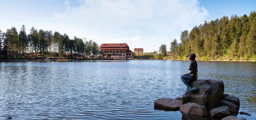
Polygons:
<instances>
[{"instance_id":1,"label":"narrow far shoreline at the water's edge beneath the two forests","mask_svg":"<svg viewBox=\"0 0 256 120\"><path fill-rule=\"evenodd\" d=\"M0 62L26 62L26 61L83 61L83 60L106 60L106 59L9 59L9 60L0 60ZM108 59L110 60L110 59ZM174 61L190 61L190 60L182 60L182 59L131 59L131 60L174 60ZM224 62L256 62L255 60L200 60L197 59L197 61L224 61Z\"/></svg>"}]
</instances>

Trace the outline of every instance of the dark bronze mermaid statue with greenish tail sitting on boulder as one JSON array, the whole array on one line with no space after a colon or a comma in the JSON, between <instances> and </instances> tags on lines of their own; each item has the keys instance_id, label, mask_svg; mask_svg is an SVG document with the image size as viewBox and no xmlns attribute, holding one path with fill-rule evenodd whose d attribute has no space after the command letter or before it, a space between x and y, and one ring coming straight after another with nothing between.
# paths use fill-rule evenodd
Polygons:
<instances>
[{"instance_id":1,"label":"dark bronze mermaid statue with greenish tail sitting on boulder","mask_svg":"<svg viewBox=\"0 0 256 120\"><path fill-rule=\"evenodd\" d=\"M189 59L191 60L190 67L188 68L188 70L190 70L190 73L187 73L181 76L182 82L188 87L188 89L185 91L186 95L190 91L198 91L197 87L191 87L190 85L190 82L197 80L196 54L190 54Z\"/></svg>"}]
</instances>

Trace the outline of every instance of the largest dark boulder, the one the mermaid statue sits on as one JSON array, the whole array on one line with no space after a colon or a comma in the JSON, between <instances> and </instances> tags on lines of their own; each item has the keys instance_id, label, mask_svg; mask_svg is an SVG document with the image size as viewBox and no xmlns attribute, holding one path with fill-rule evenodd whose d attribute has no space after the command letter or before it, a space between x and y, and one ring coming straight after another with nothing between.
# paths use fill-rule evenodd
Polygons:
<instances>
[{"instance_id":1,"label":"largest dark boulder, the one the mermaid statue sits on","mask_svg":"<svg viewBox=\"0 0 256 120\"><path fill-rule=\"evenodd\" d=\"M223 100L224 84L221 80L196 80L191 83L191 86L196 86L199 92L187 95L183 94L182 104L194 102L199 105L211 109L218 106L219 101Z\"/></svg>"}]
</instances>

